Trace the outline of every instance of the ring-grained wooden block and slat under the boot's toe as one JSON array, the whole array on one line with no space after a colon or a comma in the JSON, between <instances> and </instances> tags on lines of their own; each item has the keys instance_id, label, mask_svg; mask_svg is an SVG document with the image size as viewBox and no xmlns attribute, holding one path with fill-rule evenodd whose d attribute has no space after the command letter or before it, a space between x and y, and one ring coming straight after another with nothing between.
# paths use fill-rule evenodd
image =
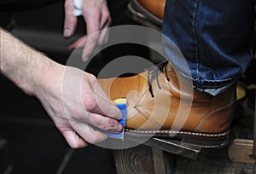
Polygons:
<instances>
[{"instance_id":1,"label":"ring-grained wooden block and slat under the boot's toe","mask_svg":"<svg viewBox=\"0 0 256 174\"><path fill-rule=\"evenodd\" d=\"M182 145L180 142L151 138L135 148L113 150L116 171L118 174L173 173L175 159L173 154L196 159L201 148Z\"/></svg>"}]
</instances>

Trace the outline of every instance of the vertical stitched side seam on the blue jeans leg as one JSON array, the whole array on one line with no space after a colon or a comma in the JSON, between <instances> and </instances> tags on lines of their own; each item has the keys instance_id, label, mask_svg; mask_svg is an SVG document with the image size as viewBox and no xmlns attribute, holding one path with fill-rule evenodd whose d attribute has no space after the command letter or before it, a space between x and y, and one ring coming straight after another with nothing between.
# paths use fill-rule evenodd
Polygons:
<instances>
[{"instance_id":1,"label":"vertical stitched side seam on the blue jeans leg","mask_svg":"<svg viewBox=\"0 0 256 174\"><path fill-rule=\"evenodd\" d=\"M198 78L199 78L199 68L200 68L200 65L199 65L199 47L198 47L199 41L198 41L198 34L196 33L196 28L195 28L196 16L197 16L197 12L198 12L198 1L199 0L195 0L193 20L192 20L193 34L194 34L194 37L195 37L195 56L196 56L196 63L197 63L195 80L198 80Z\"/></svg>"}]
</instances>

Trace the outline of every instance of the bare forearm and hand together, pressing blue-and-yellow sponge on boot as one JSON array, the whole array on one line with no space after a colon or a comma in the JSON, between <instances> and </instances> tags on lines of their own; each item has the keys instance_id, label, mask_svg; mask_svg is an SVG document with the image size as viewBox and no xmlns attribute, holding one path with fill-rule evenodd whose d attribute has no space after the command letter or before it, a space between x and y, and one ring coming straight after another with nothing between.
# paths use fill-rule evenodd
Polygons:
<instances>
[{"instance_id":1,"label":"bare forearm and hand together, pressing blue-and-yellow sponge on boot","mask_svg":"<svg viewBox=\"0 0 256 174\"><path fill-rule=\"evenodd\" d=\"M122 130L122 113L93 75L49 60L1 29L0 45L0 73L38 97L72 148L106 139L98 130Z\"/></svg>"}]
</instances>

